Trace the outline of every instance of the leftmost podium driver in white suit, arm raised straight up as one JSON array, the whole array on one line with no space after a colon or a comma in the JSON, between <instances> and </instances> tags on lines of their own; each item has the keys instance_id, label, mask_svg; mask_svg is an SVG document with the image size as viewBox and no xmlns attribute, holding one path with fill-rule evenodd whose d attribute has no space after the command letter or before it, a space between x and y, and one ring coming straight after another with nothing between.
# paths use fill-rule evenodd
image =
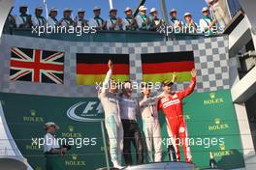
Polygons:
<instances>
[{"instance_id":1,"label":"leftmost podium driver in white suit, arm raised straight up","mask_svg":"<svg viewBox=\"0 0 256 170\"><path fill-rule=\"evenodd\" d=\"M117 85L111 79L112 77L112 61L108 63L109 71L103 82L103 87L99 91L99 99L101 100L105 112L105 126L110 139L110 153L114 168L121 169L121 156L123 149L123 128L120 119L119 103L116 96Z\"/></svg>"}]
</instances>

